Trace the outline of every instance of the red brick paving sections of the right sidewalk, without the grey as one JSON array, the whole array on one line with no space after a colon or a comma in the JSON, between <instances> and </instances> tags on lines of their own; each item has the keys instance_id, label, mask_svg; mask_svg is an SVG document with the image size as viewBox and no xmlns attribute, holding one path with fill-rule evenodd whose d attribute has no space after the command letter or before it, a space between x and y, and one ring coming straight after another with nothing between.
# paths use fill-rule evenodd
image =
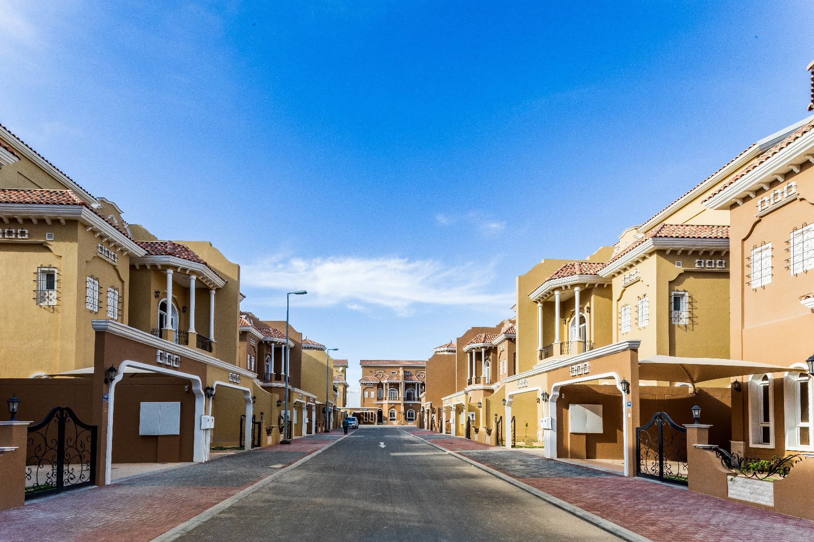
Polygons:
<instances>
[{"instance_id":1,"label":"red brick paving sections of the right sidewalk, without the grey","mask_svg":"<svg viewBox=\"0 0 814 542\"><path fill-rule=\"evenodd\" d=\"M437 435L431 431L410 432L418 436ZM460 440L429 441L455 451L463 449ZM482 448L466 449L494 448L479 446ZM540 461L553 460L540 458ZM485 461L479 462L489 466ZM656 542L814 540L814 522L644 479L603 476L518 480Z\"/></svg>"}]
</instances>

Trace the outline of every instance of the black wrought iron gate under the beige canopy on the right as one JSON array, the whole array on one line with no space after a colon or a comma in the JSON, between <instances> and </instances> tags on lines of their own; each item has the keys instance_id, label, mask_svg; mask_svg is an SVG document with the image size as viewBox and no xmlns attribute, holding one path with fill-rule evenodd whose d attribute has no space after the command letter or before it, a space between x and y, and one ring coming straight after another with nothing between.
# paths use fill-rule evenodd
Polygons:
<instances>
[{"instance_id":1,"label":"black wrought iron gate under the beige canopy on the right","mask_svg":"<svg viewBox=\"0 0 814 542\"><path fill-rule=\"evenodd\" d=\"M636 428L636 474L687 485L687 430L657 412Z\"/></svg>"}]
</instances>

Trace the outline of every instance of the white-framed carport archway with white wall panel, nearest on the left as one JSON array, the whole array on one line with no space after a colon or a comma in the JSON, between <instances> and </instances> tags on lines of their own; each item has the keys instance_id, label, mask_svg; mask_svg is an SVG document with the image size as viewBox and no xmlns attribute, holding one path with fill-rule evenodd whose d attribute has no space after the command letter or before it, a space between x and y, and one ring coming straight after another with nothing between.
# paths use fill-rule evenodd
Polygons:
<instances>
[{"instance_id":1,"label":"white-framed carport archway with white wall panel, nearest on the left","mask_svg":"<svg viewBox=\"0 0 814 542\"><path fill-rule=\"evenodd\" d=\"M138 381L131 382L129 378L122 383L127 367L143 369L156 377L135 374ZM138 361L122 361L107 392L105 483L111 482L114 455L117 461L132 463L167 462L158 461L165 457L206 461L206 439L199 422L203 415L204 389L199 376Z\"/></svg>"}]
</instances>

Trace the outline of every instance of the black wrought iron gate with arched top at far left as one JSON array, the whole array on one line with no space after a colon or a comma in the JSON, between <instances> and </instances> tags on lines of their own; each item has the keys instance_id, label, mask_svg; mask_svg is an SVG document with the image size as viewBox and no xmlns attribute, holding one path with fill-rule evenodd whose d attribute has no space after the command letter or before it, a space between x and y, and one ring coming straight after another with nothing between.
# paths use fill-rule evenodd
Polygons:
<instances>
[{"instance_id":1,"label":"black wrought iron gate with arched top at far left","mask_svg":"<svg viewBox=\"0 0 814 542\"><path fill-rule=\"evenodd\" d=\"M55 407L28 427L25 499L92 486L96 476L96 426L72 409Z\"/></svg>"}]
</instances>

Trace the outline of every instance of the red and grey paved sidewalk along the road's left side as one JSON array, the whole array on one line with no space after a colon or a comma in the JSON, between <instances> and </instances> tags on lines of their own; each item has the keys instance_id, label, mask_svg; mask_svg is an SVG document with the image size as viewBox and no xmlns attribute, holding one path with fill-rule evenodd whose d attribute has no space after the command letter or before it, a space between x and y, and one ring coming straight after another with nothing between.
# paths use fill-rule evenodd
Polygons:
<instances>
[{"instance_id":1,"label":"red and grey paved sidewalk along the road's left side","mask_svg":"<svg viewBox=\"0 0 814 542\"><path fill-rule=\"evenodd\" d=\"M0 540L152 540L342 437L309 435L0 512Z\"/></svg>"}]
</instances>

